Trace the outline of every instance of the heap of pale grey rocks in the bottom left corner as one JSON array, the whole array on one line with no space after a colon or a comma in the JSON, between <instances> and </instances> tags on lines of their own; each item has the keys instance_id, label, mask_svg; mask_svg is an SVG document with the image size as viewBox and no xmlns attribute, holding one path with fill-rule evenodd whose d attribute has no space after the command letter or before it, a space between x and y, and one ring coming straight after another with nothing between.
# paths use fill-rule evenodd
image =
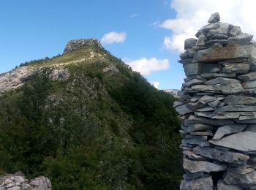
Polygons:
<instances>
[{"instance_id":1,"label":"heap of pale grey rocks in the bottom left corner","mask_svg":"<svg viewBox=\"0 0 256 190\"><path fill-rule=\"evenodd\" d=\"M0 190L51 190L51 183L48 178L40 176L32 180L27 180L21 172L14 175L4 175L0 177Z\"/></svg>"}]
</instances>

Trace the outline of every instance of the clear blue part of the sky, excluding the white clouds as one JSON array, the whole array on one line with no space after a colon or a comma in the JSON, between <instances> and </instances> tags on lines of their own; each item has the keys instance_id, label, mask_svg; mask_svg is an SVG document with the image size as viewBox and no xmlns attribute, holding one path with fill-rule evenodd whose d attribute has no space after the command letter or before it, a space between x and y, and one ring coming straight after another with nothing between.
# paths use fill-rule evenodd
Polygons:
<instances>
[{"instance_id":1,"label":"clear blue part of the sky, excluding the white clouds","mask_svg":"<svg viewBox=\"0 0 256 190\"><path fill-rule=\"evenodd\" d=\"M24 61L62 53L70 39L102 39L110 31L125 32L122 43L104 44L114 56L134 61L140 58L169 59L170 69L145 75L159 88L179 88L182 75L178 53L163 46L170 33L157 26L176 12L165 0L1 0L0 72Z\"/></svg>"}]
</instances>

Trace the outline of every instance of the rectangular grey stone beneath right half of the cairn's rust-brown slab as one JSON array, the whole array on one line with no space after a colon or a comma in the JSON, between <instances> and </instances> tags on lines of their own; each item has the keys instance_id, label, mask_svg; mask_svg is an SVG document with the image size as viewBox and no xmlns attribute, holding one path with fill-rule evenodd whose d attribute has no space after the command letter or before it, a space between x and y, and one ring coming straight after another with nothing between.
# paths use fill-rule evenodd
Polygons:
<instances>
[{"instance_id":1,"label":"rectangular grey stone beneath right half of the cairn's rust-brown slab","mask_svg":"<svg viewBox=\"0 0 256 190\"><path fill-rule=\"evenodd\" d=\"M246 63L224 64L223 72L225 73L236 72L238 74L245 74L249 72L249 64L246 64Z\"/></svg>"}]
</instances>

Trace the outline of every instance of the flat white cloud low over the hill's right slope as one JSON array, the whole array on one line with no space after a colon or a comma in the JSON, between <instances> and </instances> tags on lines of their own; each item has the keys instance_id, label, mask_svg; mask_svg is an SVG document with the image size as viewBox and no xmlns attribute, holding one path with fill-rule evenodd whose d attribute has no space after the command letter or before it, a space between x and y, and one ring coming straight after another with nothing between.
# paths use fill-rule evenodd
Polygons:
<instances>
[{"instance_id":1,"label":"flat white cloud low over the hill's right slope","mask_svg":"<svg viewBox=\"0 0 256 190\"><path fill-rule=\"evenodd\" d=\"M126 64L132 67L136 72L140 72L141 75L150 75L151 72L167 70L170 67L168 59L158 58L140 58L134 61L127 61Z\"/></svg>"}]
</instances>

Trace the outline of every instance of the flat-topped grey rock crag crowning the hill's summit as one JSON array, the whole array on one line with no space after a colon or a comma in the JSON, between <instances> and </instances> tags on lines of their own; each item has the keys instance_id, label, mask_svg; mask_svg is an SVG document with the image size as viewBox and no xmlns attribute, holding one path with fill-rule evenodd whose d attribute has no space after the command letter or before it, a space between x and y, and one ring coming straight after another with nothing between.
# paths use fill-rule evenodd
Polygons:
<instances>
[{"instance_id":1,"label":"flat-topped grey rock crag crowning the hill's summit","mask_svg":"<svg viewBox=\"0 0 256 190\"><path fill-rule=\"evenodd\" d=\"M72 39L67 42L63 54L70 53L73 50L86 45L96 45L97 47L102 47L99 40L97 39Z\"/></svg>"}]
</instances>

